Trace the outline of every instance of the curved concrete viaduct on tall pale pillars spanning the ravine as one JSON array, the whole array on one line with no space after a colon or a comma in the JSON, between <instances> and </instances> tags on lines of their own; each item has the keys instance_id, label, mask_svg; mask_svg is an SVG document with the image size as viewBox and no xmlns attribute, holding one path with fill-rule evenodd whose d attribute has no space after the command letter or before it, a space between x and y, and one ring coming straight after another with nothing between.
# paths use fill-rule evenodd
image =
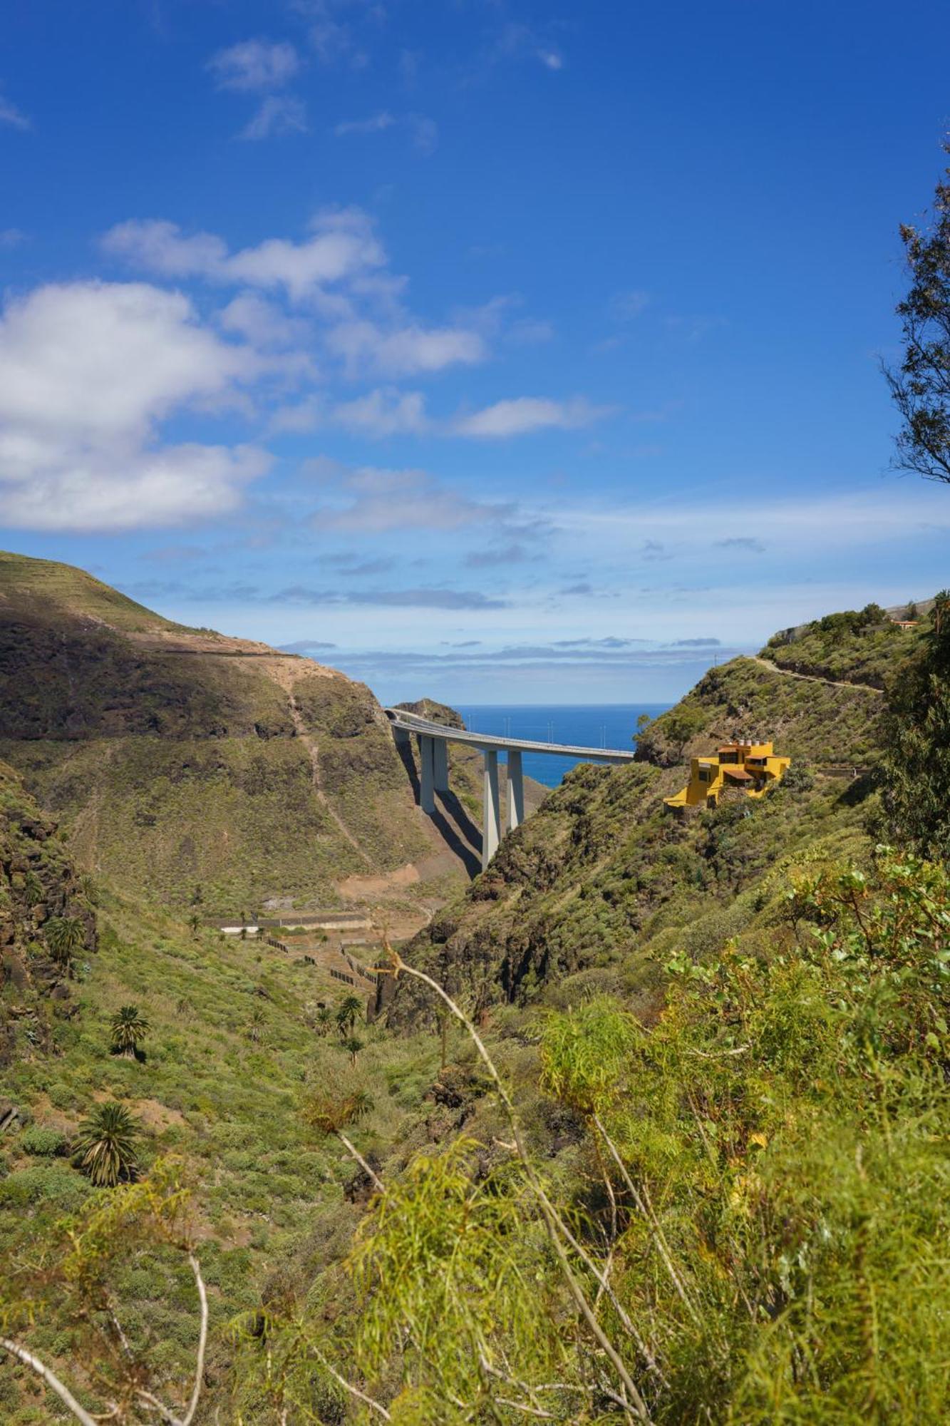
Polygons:
<instances>
[{"instance_id":1,"label":"curved concrete viaduct on tall pale pillars spanning the ravine","mask_svg":"<svg viewBox=\"0 0 950 1426\"><path fill-rule=\"evenodd\" d=\"M466 743L476 747L485 759L484 807L482 807L482 871L495 856L502 836L501 806L498 799L498 754L508 754L508 826L512 831L525 820L525 780L521 766L522 753L552 753L556 757L579 757L588 763L632 763L635 753L615 747L575 747L568 743L533 743L523 737L492 737L488 733L469 733L462 727L446 727L431 719L407 713L405 709L385 709L392 724L397 743L408 743L412 736L419 744L419 806L429 816L435 811L435 793L446 793L448 744Z\"/></svg>"}]
</instances>

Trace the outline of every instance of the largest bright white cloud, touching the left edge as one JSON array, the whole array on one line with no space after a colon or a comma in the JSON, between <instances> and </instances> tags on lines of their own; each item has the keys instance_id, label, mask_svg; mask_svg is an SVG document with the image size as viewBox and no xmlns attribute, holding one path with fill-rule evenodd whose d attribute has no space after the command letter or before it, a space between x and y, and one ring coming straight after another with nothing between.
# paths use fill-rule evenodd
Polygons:
<instances>
[{"instance_id":1,"label":"largest bright white cloud, touching the left edge","mask_svg":"<svg viewBox=\"0 0 950 1426\"><path fill-rule=\"evenodd\" d=\"M261 475L247 446L158 443L167 416L262 372L188 299L140 282L41 287L0 321L0 483L10 525L130 529L227 512Z\"/></svg>"}]
</instances>

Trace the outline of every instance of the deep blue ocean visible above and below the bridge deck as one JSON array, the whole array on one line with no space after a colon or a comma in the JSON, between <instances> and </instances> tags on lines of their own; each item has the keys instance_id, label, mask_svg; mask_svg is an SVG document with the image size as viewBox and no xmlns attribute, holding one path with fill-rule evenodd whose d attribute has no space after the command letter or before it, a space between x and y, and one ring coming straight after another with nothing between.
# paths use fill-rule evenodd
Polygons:
<instances>
[{"instance_id":1,"label":"deep blue ocean visible above and below the bridge deck","mask_svg":"<svg viewBox=\"0 0 950 1426\"><path fill-rule=\"evenodd\" d=\"M465 704L459 713L472 733L498 737L528 737L541 743L575 743L585 747L616 747L629 752L642 713L656 717L669 703L536 703ZM565 773L576 767L578 757L553 757L549 753L525 753L526 777L556 787Z\"/></svg>"}]
</instances>

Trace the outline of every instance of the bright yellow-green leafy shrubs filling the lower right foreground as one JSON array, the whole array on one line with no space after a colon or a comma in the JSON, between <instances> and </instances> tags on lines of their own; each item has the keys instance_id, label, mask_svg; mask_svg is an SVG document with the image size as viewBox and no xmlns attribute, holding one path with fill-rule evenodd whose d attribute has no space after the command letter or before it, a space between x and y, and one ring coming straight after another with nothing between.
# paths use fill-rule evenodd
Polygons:
<instances>
[{"instance_id":1,"label":"bright yellow-green leafy shrubs filling the lower right foreground","mask_svg":"<svg viewBox=\"0 0 950 1426\"><path fill-rule=\"evenodd\" d=\"M404 1426L940 1420L950 880L882 853L787 908L779 954L675 958L652 1027L605 997L548 1012L573 1172L419 1155L364 1224L351 1310L328 1326L318 1283L268 1323L274 1409L305 1419L337 1360L377 1397L347 1419Z\"/></svg>"}]
</instances>

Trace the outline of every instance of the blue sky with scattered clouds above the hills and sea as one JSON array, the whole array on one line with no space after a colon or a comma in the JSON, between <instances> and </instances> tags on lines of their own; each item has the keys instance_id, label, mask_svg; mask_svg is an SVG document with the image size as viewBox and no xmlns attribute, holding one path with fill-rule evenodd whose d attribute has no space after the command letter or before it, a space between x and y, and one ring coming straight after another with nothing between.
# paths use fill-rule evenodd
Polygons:
<instances>
[{"instance_id":1,"label":"blue sky with scattered clouds above the hills and sea","mask_svg":"<svg viewBox=\"0 0 950 1426\"><path fill-rule=\"evenodd\" d=\"M7 0L0 545L381 697L949 582L889 471L944 4Z\"/></svg>"}]
</instances>

